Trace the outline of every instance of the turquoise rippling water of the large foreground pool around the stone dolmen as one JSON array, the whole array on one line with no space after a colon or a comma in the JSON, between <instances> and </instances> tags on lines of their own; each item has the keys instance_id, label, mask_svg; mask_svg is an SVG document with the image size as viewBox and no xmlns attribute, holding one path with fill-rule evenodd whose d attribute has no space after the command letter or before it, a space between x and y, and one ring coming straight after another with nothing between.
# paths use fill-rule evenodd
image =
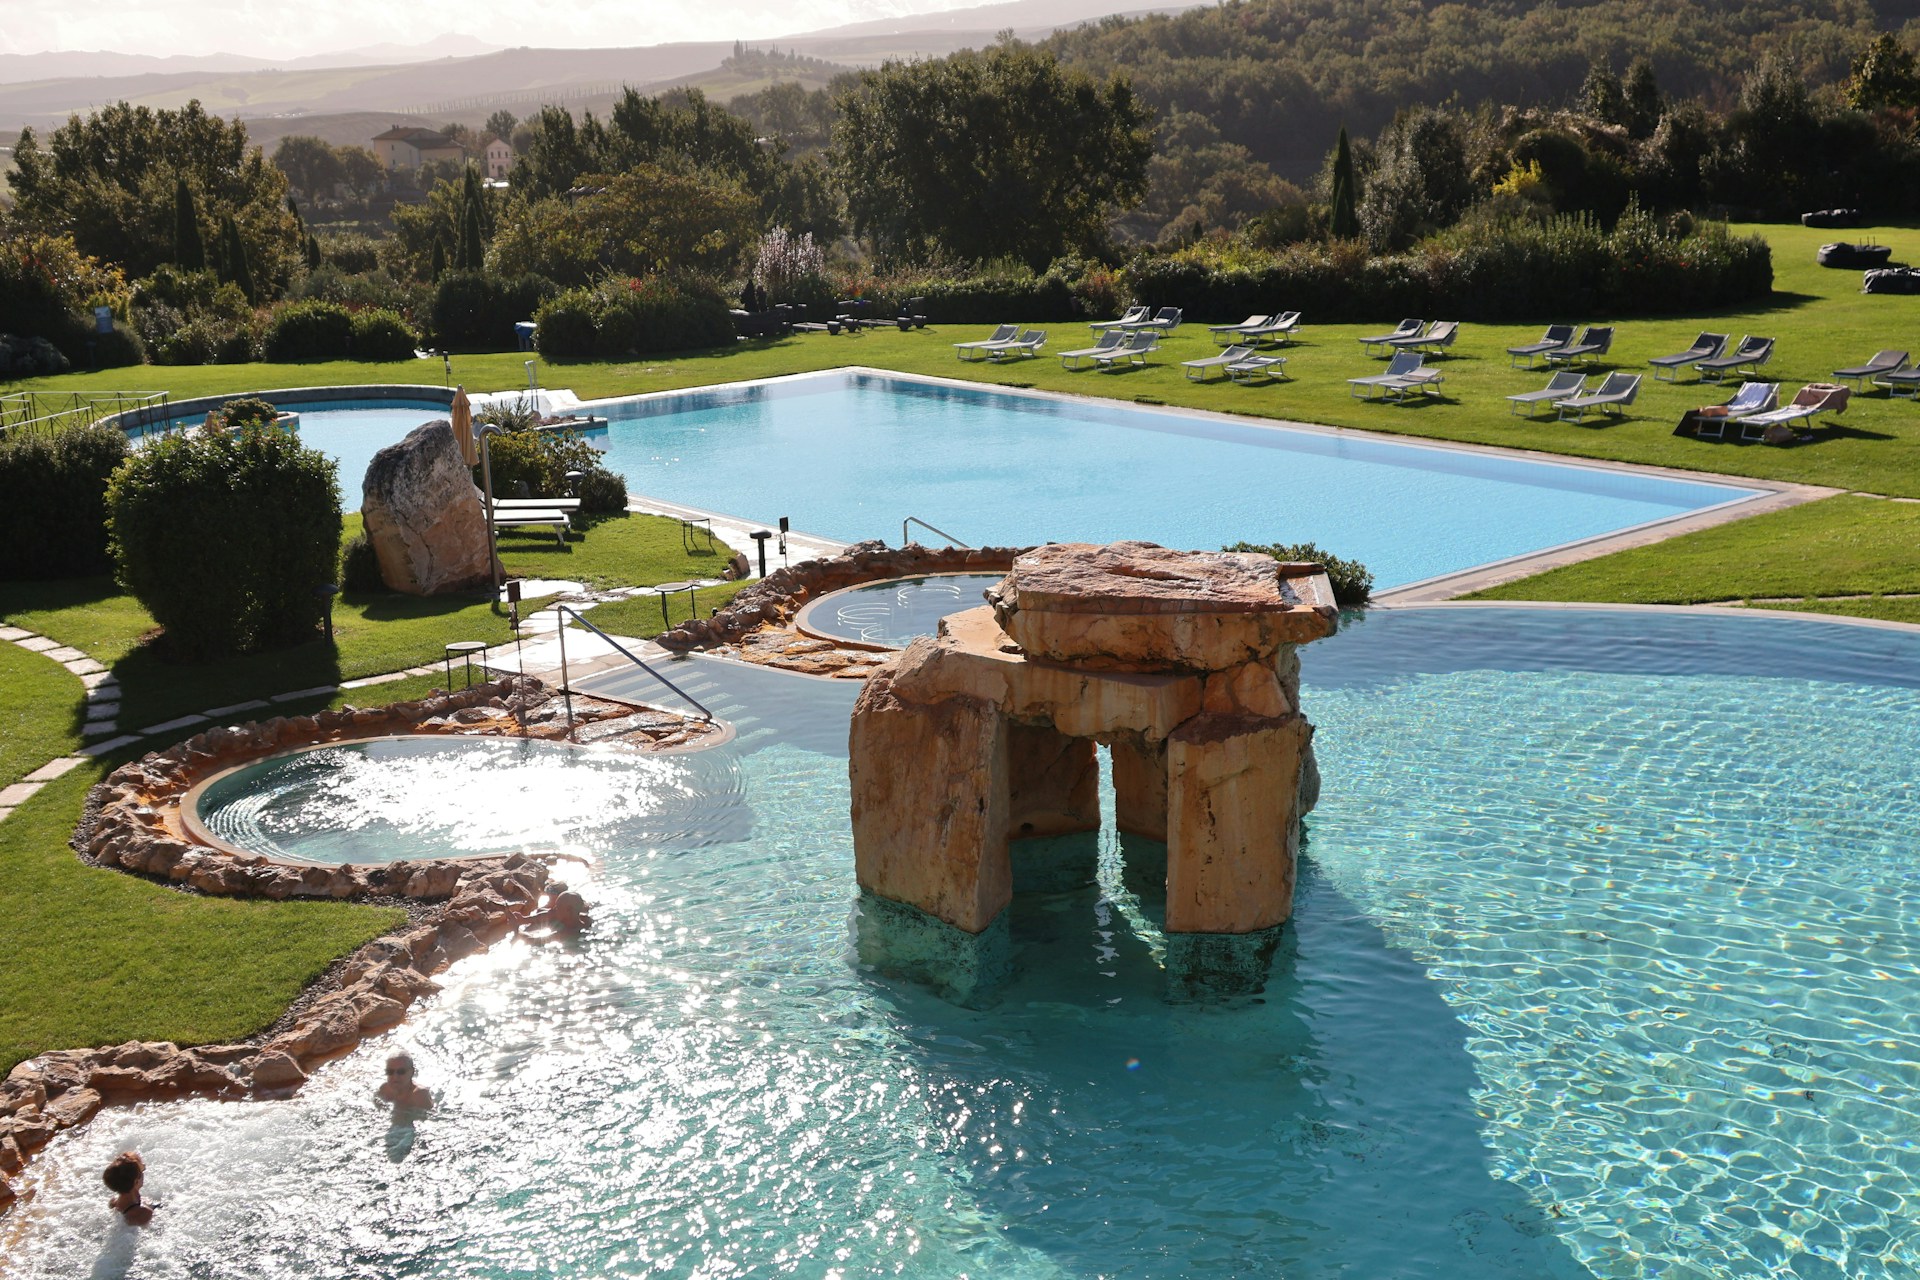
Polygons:
<instances>
[{"instance_id":1,"label":"turquoise rippling water of the large foreground pool around the stone dolmen","mask_svg":"<svg viewBox=\"0 0 1920 1280\"><path fill-rule=\"evenodd\" d=\"M1167 1004L1158 902L1016 902L962 1009L860 969L854 689L697 660L716 823L595 833L509 944L288 1103L109 1111L0 1272L1920 1274L1920 639L1396 610L1306 651L1327 773L1267 990ZM438 1113L390 1130L405 1046ZM163 1203L113 1228L134 1146Z\"/></svg>"}]
</instances>

